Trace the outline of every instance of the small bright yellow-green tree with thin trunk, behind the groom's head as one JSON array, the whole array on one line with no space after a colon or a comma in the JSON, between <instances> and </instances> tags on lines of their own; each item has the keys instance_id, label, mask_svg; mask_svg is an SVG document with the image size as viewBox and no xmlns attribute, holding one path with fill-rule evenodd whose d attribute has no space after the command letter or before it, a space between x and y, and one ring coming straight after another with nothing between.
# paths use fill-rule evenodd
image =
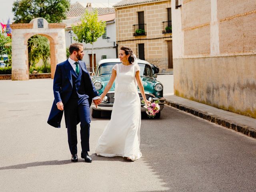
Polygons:
<instances>
[{"instance_id":1,"label":"small bright yellow-green tree with thin trunk, behind the groom's head","mask_svg":"<svg viewBox=\"0 0 256 192\"><path fill-rule=\"evenodd\" d=\"M72 26L74 34L77 38L74 37L74 40L82 43L92 44L92 72L94 73L94 54L93 54L93 43L104 34L106 27L106 22L98 21L98 12L97 10L89 12L86 10L84 15L81 17L81 23Z\"/></svg>"}]
</instances>

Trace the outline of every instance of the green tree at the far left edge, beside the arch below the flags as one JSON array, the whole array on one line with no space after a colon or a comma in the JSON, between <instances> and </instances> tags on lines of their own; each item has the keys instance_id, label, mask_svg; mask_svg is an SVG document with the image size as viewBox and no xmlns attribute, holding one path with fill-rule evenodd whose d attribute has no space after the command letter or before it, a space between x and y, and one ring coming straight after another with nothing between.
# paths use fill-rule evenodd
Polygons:
<instances>
[{"instance_id":1,"label":"green tree at the far left edge, beside the arch below the flags","mask_svg":"<svg viewBox=\"0 0 256 192\"><path fill-rule=\"evenodd\" d=\"M12 39L10 38L10 36L5 36L4 34L0 33L0 58L2 58L4 54L7 54L8 58L11 61L11 55L12 55L11 42L12 42Z\"/></svg>"}]
</instances>

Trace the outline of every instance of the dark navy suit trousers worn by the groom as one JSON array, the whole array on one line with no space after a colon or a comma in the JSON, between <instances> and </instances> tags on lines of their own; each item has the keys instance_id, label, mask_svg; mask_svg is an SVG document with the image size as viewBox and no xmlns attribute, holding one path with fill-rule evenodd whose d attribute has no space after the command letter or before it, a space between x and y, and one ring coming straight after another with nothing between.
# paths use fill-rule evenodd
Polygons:
<instances>
[{"instance_id":1,"label":"dark navy suit trousers worn by the groom","mask_svg":"<svg viewBox=\"0 0 256 192\"><path fill-rule=\"evenodd\" d=\"M70 98L64 106L64 116L68 129L68 145L71 154L77 154L77 118L80 119L82 151L90 151L90 106L88 99Z\"/></svg>"}]
</instances>

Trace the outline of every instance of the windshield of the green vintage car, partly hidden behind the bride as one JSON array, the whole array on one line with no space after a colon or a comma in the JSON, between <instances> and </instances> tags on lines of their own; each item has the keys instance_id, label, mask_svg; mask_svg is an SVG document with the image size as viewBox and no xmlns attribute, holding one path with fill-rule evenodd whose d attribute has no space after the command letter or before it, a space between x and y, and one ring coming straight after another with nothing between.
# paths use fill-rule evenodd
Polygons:
<instances>
[{"instance_id":1,"label":"windshield of the green vintage car, partly hidden behind the bride","mask_svg":"<svg viewBox=\"0 0 256 192\"><path fill-rule=\"evenodd\" d=\"M112 74L112 69L115 64L121 64L120 62L114 62L114 63L102 63L100 67L97 70L97 77L102 76L102 75L111 75ZM143 63L138 63L140 66L140 75L141 76L148 76L153 78L152 74L152 69L150 66L143 64Z\"/></svg>"}]
</instances>

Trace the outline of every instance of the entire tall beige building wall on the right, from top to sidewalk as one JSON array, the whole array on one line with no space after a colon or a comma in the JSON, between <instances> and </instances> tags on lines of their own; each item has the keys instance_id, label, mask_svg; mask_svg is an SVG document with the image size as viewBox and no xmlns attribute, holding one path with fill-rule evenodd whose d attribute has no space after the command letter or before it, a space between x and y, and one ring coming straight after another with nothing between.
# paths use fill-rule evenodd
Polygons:
<instances>
[{"instance_id":1,"label":"entire tall beige building wall on the right, from top to sidewalk","mask_svg":"<svg viewBox=\"0 0 256 192\"><path fill-rule=\"evenodd\" d=\"M174 94L256 118L256 1L172 7Z\"/></svg>"}]
</instances>

